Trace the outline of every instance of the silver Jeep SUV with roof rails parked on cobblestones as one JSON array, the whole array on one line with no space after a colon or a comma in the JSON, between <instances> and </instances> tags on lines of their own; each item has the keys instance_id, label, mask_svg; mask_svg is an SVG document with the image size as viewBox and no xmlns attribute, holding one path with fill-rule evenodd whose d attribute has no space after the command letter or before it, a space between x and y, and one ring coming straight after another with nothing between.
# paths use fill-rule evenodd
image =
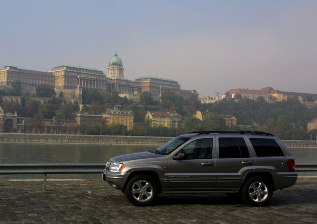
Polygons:
<instances>
[{"instance_id":1,"label":"silver Jeep SUV with roof rails parked on cobblestones","mask_svg":"<svg viewBox=\"0 0 317 224\"><path fill-rule=\"evenodd\" d=\"M263 206L273 191L295 184L294 171L290 151L270 133L200 131L113 157L102 178L136 206L150 205L161 193L225 193Z\"/></svg>"}]
</instances>

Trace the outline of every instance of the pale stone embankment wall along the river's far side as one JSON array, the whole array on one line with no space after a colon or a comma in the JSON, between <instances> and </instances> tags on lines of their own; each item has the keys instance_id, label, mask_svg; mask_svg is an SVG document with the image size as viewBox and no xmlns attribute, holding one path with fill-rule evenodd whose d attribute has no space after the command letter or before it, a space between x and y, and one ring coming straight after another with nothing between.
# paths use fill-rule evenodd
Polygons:
<instances>
[{"instance_id":1,"label":"pale stone embankment wall along the river's far side","mask_svg":"<svg viewBox=\"0 0 317 224\"><path fill-rule=\"evenodd\" d=\"M79 135L79 134L26 134L0 133L0 143L17 144L79 144L79 145L153 145L166 143L173 137ZM289 148L317 148L317 141L283 140Z\"/></svg>"}]
</instances>

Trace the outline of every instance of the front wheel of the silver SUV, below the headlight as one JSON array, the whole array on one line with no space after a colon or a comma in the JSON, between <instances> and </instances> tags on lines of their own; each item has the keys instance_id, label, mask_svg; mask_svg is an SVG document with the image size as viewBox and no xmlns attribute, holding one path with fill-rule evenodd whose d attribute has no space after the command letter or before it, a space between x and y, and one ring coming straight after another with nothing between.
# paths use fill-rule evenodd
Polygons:
<instances>
[{"instance_id":1,"label":"front wheel of the silver SUV, below the headlight","mask_svg":"<svg viewBox=\"0 0 317 224\"><path fill-rule=\"evenodd\" d=\"M126 196L135 206L148 206L158 197L158 184L149 175L136 175L126 187Z\"/></svg>"}]
</instances>

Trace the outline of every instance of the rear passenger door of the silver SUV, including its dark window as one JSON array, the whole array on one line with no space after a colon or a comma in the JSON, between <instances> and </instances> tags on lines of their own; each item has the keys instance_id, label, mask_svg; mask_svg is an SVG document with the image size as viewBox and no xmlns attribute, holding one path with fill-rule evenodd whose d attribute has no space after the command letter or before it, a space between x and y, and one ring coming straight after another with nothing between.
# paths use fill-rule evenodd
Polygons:
<instances>
[{"instance_id":1,"label":"rear passenger door of the silver SUV, including its dark window","mask_svg":"<svg viewBox=\"0 0 317 224\"><path fill-rule=\"evenodd\" d=\"M239 188L248 172L254 170L254 157L244 137L217 136L216 188Z\"/></svg>"}]
</instances>

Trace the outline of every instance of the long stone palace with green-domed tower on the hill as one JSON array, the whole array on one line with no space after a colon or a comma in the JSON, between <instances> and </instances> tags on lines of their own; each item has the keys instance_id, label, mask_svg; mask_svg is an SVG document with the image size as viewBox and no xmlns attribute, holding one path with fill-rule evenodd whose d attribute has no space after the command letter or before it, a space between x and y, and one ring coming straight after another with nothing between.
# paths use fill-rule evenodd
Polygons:
<instances>
[{"instance_id":1,"label":"long stone palace with green-domed tower on the hill","mask_svg":"<svg viewBox=\"0 0 317 224\"><path fill-rule=\"evenodd\" d=\"M11 65L0 70L0 86L11 86L15 80L20 80L22 87L48 85L54 87L56 92L76 90L77 92L70 91L72 97L79 97L81 91L117 90L121 97L128 99L139 99L140 94L145 91L149 91L155 100L159 100L165 92L180 95L184 99L198 99L197 91L181 90L178 82L174 80L151 76L135 81L125 79L123 63L117 54L109 61L107 75L98 69L68 64L53 67L49 72L19 69Z\"/></svg>"}]
</instances>

